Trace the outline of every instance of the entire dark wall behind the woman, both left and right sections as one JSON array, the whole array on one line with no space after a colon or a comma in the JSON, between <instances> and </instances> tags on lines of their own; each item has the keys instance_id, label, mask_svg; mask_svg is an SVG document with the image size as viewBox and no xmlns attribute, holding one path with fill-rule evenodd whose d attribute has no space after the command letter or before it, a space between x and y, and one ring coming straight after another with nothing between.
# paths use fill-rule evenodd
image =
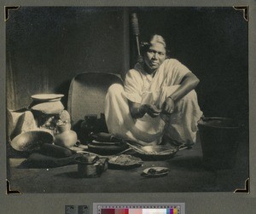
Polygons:
<instances>
[{"instance_id":1,"label":"entire dark wall behind the woman, both left and right sections","mask_svg":"<svg viewBox=\"0 0 256 214\"><path fill-rule=\"evenodd\" d=\"M201 79L196 91L206 116L247 122L247 21L231 7L13 11L6 25L8 107L26 107L37 93L67 97L71 79L80 72L123 74L129 57L133 67L136 46L125 18L133 12L142 41L152 33L164 36L172 58Z\"/></svg>"}]
</instances>

